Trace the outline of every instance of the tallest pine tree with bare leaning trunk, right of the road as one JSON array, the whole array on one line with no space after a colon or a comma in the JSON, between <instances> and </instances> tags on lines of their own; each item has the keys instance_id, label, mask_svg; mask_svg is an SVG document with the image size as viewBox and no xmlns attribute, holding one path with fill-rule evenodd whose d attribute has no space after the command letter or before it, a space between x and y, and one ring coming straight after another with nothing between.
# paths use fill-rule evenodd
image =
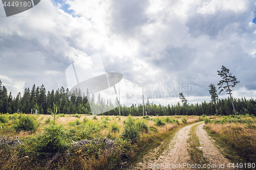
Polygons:
<instances>
[{"instance_id":1,"label":"tallest pine tree with bare leaning trunk, right of the road","mask_svg":"<svg viewBox=\"0 0 256 170\"><path fill-rule=\"evenodd\" d=\"M232 73L231 72L229 73L229 69L223 65L221 67L221 71L217 70L217 72L218 72L218 75L222 78L222 80L218 83L218 86L220 86L219 89L221 89L219 94L222 91L225 91L227 95L228 94L230 95L234 114L237 115L236 109L234 109L233 99L231 96L232 89L230 89L230 87L236 86L238 83L240 83L240 81L237 81L237 78L235 76L232 76Z\"/></svg>"}]
</instances>

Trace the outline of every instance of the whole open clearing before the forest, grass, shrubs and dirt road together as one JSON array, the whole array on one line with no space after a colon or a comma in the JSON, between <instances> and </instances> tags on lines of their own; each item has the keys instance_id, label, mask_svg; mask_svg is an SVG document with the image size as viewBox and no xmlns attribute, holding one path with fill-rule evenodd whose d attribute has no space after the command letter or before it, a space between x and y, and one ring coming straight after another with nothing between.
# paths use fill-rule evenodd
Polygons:
<instances>
[{"instance_id":1,"label":"whole open clearing before the forest, grass, shrubs and dirt road together","mask_svg":"<svg viewBox=\"0 0 256 170\"><path fill-rule=\"evenodd\" d=\"M1 169L154 169L154 164L157 168L165 163L216 164L212 169L235 163L235 168L254 169L256 160L253 115L96 116L53 111L2 114L0 121Z\"/></svg>"}]
</instances>

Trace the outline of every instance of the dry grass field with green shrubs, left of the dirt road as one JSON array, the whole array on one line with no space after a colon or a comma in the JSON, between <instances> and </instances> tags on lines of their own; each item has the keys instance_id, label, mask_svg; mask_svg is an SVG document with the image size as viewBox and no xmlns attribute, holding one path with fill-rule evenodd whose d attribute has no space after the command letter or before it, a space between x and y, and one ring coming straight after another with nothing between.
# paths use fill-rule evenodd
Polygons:
<instances>
[{"instance_id":1,"label":"dry grass field with green shrubs, left of the dirt road","mask_svg":"<svg viewBox=\"0 0 256 170\"><path fill-rule=\"evenodd\" d=\"M199 120L199 116L55 116L0 115L0 168L129 168L178 128Z\"/></svg>"}]
</instances>

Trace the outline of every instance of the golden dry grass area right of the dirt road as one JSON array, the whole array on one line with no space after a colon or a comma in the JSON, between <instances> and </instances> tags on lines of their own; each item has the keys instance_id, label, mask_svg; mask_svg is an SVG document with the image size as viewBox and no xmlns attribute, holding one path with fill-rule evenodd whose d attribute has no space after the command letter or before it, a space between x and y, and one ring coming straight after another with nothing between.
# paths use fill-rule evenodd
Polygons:
<instances>
[{"instance_id":1,"label":"golden dry grass area right of the dirt road","mask_svg":"<svg viewBox=\"0 0 256 170\"><path fill-rule=\"evenodd\" d=\"M253 120L225 116L206 122L205 127L210 134L227 144L231 151L242 156L247 162L256 160L256 129Z\"/></svg>"}]
</instances>

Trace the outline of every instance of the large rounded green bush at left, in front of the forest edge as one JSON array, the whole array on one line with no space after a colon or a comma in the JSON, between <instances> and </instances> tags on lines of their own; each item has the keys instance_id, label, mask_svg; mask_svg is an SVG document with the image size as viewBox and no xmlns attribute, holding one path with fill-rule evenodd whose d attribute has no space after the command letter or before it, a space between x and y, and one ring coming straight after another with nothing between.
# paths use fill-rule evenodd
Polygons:
<instances>
[{"instance_id":1,"label":"large rounded green bush at left, in front of the forest edge","mask_svg":"<svg viewBox=\"0 0 256 170\"><path fill-rule=\"evenodd\" d=\"M20 118L14 122L14 129L18 131L36 131L38 123L35 118L29 115L22 115Z\"/></svg>"}]
</instances>

